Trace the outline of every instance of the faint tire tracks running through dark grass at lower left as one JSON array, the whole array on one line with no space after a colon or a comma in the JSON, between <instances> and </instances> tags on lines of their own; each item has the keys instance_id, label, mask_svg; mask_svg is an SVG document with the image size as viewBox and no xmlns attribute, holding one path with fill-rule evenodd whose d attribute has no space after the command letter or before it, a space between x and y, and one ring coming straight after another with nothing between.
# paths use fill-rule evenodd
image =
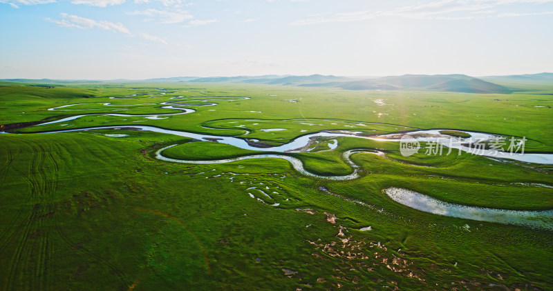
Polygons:
<instances>
[{"instance_id":1,"label":"faint tire tracks running through dark grass at lower left","mask_svg":"<svg viewBox=\"0 0 553 291\"><path fill-rule=\"evenodd\" d=\"M44 146L32 141L23 141L32 148L33 155L28 166L28 174L22 174L26 177L30 184L28 191L28 199L26 205L35 203L28 215L21 221L19 226L6 244L12 238L17 238L15 234L19 234L17 248L12 255L10 263L10 274L5 290L48 290L51 289L54 283L53 274L48 272L51 270L51 260L53 258L53 235L59 234L59 237L69 245L74 247L75 243L68 239L64 234L59 221L59 217L55 215L55 190L57 190L57 181L59 179L59 166L50 151ZM48 167L47 165L51 165ZM19 216L24 211L19 212ZM53 214L53 227L46 227L46 218ZM53 228L53 229L48 229ZM33 230L39 230L40 239L33 240L30 238ZM102 257L94 254L90 250L79 249L79 252L84 252L93 257L96 261L100 261L107 266L114 274L117 274L122 284L129 285L124 278L124 272L119 270ZM35 254L35 257L32 255ZM29 276L28 274L33 274Z\"/></svg>"}]
</instances>

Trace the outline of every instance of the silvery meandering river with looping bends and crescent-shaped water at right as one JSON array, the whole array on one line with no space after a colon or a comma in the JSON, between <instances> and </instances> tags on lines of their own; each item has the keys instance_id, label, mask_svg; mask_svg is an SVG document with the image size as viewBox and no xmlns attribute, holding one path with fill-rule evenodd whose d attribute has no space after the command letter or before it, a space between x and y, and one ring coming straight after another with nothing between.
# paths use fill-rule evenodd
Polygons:
<instances>
[{"instance_id":1,"label":"silvery meandering river with looping bends and crescent-shaped water at right","mask_svg":"<svg viewBox=\"0 0 553 291\"><path fill-rule=\"evenodd\" d=\"M177 99L181 97L171 97L171 99ZM176 113L168 113L168 114L118 114L118 113L92 113L92 114L80 114L73 117L67 117L64 119L59 119L57 121L50 121L41 123L39 125L47 125L47 124L53 124L53 123L60 123L60 122L66 122L78 119L80 117L88 116L88 115L107 115L107 116L116 116L116 117L147 117L151 119L162 119L163 117L167 117L169 115L178 115L178 114L188 114L191 112L195 112L196 110L190 109L190 108L182 108L182 106L215 106L216 103L205 103L207 100L221 100L221 99L249 99L248 97L223 97L223 98L213 98L213 99L185 99L184 102L189 102L189 104L179 104L176 102L162 102L160 103L160 108L165 109L174 109L174 110L180 110L180 112ZM197 102L196 102L197 101ZM196 102L195 104L192 104L191 102ZM100 103L103 106L114 106L111 103ZM77 106L77 105L84 105L84 104L70 104L66 106L59 106L57 108L50 108L49 110L91 110L91 109L68 109L71 106ZM137 104L138 105L150 105L150 104ZM99 109L99 108L95 108ZM392 142L400 142L402 139L400 137L403 136L405 132L402 133L396 133L396 134L382 134L382 135L373 135L373 136L363 136L359 135L359 132L346 132L344 130L340 131L321 131L321 132L315 132L311 134L305 134L301 135L299 137L296 137L295 139L292 139L290 142L285 143L283 145L274 146L274 147L265 147L265 148L259 148L255 145L251 145L248 143L246 139L240 138L240 137L228 137L228 136L222 136L222 135L215 135L215 134L200 134L200 133L194 133L194 132L186 132L182 130L168 130L165 128L158 128L156 126L97 126L93 128L74 128L70 130L54 130L49 132L35 132L34 134L55 134L55 133L62 133L62 132L82 132L87 130L108 130L108 129L129 129L129 130L140 130L140 131L151 131L151 132L160 132L164 134L173 134L179 137L187 137L190 139L197 139L200 141L216 141L218 143L225 143L228 145L234 145L238 148L242 148L245 150L256 150L261 152L300 152L306 150L306 145L310 143L312 139L317 139L321 137L327 137L327 138L336 138L336 137L352 137L357 139L370 139L375 141L392 141ZM276 130L285 130L281 128L274 128L274 129L265 129L265 131L276 131ZM443 129L445 130L445 129ZM420 142L430 142L430 141L438 141L438 143L441 143L444 146L451 146L451 139L458 143L457 148L458 150L462 150L464 152L471 152L473 154L478 154L480 156L489 157L489 158L505 158L505 159L512 159L516 161L523 161L528 163L543 163L543 164L553 164L553 154L509 154L506 152L500 152L500 151L492 151L492 150L481 150L478 152L474 152L474 148L467 147L465 144L469 143L468 139L463 138L453 138L451 136L447 136L440 133L440 129L434 129L434 130L415 130L411 132L407 132L410 136L413 136L416 141ZM461 131L461 130L458 130ZM484 132L469 132L462 130L462 132L466 132L471 135L472 139L478 139L480 141L491 141L492 139L498 138L498 134L489 134ZM116 137L118 135L112 135L113 137ZM120 135L120 136L123 136ZM438 139L437 139L438 138ZM338 141L336 139L332 139L328 146L330 147L330 150L334 150L337 148ZM344 158L344 161L348 163L353 168L353 172L351 174L343 175L343 176L321 176L314 174L312 172L308 172L304 167L301 160L291 157L286 154L249 154L244 157L236 157L234 159L219 159L214 161L202 161L202 160L182 160L182 159L171 159L169 157L163 156L163 151L167 150L168 148L171 148L175 145L169 145L165 148L161 148L156 152L156 158L160 159L162 161L170 161L174 163L195 163L195 164L214 164L214 163L230 163L233 161L243 161L247 159L265 159L265 158L272 158L272 159L283 159L285 161L288 161L292 164L292 167L300 172L301 174L304 174L309 177L316 177L319 179L330 179L330 180L350 180L350 179L357 179L359 177L359 165L356 165L351 161L350 157L352 154L355 153L371 153L371 154L379 154L381 156L384 156L384 152L379 152L377 150L348 150L343 153L342 157ZM546 185L547 186L547 185ZM547 186L549 187L549 186ZM492 209L492 208L478 208L478 207L471 207L466 205L458 205L453 203L447 203L444 201L440 201L438 199L433 199L432 197L429 197L427 195L414 192L411 190L406 190L402 188L387 188L383 190L388 197L393 199L393 201L396 201L397 203L401 203L402 205L406 205L410 208L421 210L424 212L429 212L433 214L439 214L444 215L448 217L457 217L462 219L472 219L476 221L489 221L489 222L497 222L497 223L506 223L506 224L514 224L514 225L525 225L532 228L546 228L546 229L553 229L553 210L547 210L547 211L514 211L514 210L499 210L499 209Z\"/></svg>"}]
</instances>

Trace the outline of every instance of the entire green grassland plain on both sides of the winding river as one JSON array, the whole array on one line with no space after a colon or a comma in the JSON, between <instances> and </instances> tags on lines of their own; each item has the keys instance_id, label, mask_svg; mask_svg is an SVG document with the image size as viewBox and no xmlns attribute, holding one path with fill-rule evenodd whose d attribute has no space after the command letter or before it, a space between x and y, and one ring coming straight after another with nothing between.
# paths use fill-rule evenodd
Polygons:
<instances>
[{"instance_id":1,"label":"entire green grassland plain on both sides of the winding river","mask_svg":"<svg viewBox=\"0 0 553 291\"><path fill-rule=\"evenodd\" d=\"M335 150L329 150L329 139L319 139L312 152L285 153L324 176L353 171L342 158L346 150L386 153L353 154L361 177L329 181L299 174L280 159L159 161L156 151L174 144L165 156L216 160L259 153L170 134L29 134L148 125L279 145L321 130L444 128L527 137L527 151L552 152L552 95L221 83L67 86L0 87L3 125L98 114L0 134L3 290L552 290L550 230L429 214L382 193L400 187L449 203L551 210L553 189L531 185L553 185L550 165L456 150L403 157L397 142L351 137L337 138ZM185 98L169 99L178 96ZM182 107L197 111L167 119L101 115L177 113L160 103L187 99L218 105L187 107L183 101ZM97 104L48 110L77 103ZM285 130L262 131L271 128ZM306 208L312 211L297 210ZM297 273L286 275L283 268Z\"/></svg>"}]
</instances>

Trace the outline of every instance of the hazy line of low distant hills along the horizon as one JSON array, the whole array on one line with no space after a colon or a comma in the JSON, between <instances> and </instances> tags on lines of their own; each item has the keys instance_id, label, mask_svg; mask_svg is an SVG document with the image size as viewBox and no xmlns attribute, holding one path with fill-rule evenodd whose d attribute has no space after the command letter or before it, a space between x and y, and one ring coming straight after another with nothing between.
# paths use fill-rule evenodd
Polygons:
<instances>
[{"instance_id":1,"label":"hazy line of low distant hills along the horizon","mask_svg":"<svg viewBox=\"0 0 553 291\"><path fill-rule=\"evenodd\" d=\"M50 79L6 79L9 83L70 84L136 82L131 80L50 80ZM470 77L465 74L404 74L388 77L341 77L312 74L309 76L275 75L236 77L170 77L143 81L183 83L260 83L283 86L329 87L344 90L421 90L438 92L496 93L508 94L516 91L535 90L550 86L553 88L553 73L521 74L510 76Z\"/></svg>"}]
</instances>

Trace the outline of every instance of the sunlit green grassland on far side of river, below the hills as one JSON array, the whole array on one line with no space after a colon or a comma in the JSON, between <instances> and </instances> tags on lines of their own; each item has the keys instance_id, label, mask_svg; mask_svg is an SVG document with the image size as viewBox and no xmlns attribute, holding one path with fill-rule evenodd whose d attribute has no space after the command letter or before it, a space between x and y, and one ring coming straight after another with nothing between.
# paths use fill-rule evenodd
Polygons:
<instances>
[{"instance_id":1,"label":"sunlit green grassland on far side of river, below the hills","mask_svg":"<svg viewBox=\"0 0 553 291\"><path fill-rule=\"evenodd\" d=\"M195 114L188 116L170 116L167 119L147 121L144 117L102 119L101 125L137 124L133 121L147 121L147 124L171 128L175 130L187 130L192 132L211 132L216 134L241 134L243 130L207 130L202 126L224 125L221 119L264 119L274 121L288 119L325 119L341 121L359 121L359 123L386 124L384 131L393 132L408 130L409 128L451 128L471 131L482 131L505 134L507 136L527 137L527 147L534 151L553 151L553 137L544 130L553 122L551 114L553 98L543 94L469 94L453 92L419 92L419 91L346 91L334 88L290 88L285 86L268 85L236 85L236 84L194 84L192 88L182 88L180 84L152 84L151 88L143 88L144 84L126 84L126 88L78 88L83 98L71 99L71 103L111 102L113 104L140 104L159 103L169 101L168 97L251 97L249 100L225 100L218 102L218 106L205 106L194 108ZM160 95L156 91L157 86L167 89L166 94ZM178 87L180 86L180 87ZM124 108L124 111L113 111L120 108L115 106L96 106L100 110L84 111L48 111L47 108L67 105L67 96L75 96L74 88L46 89L31 87L26 89L26 95L20 96L12 93L13 87L8 86L7 94L0 96L3 112L2 123L15 123L22 121L36 121L53 117L68 117L82 113L129 113L129 114L161 114L176 113L176 110L162 109L160 106L138 106L137 108ZM26 87L25 87L26 88ZM46 99L41 98L43 92L48 90L66 90L65 98ZM184 89L184 90L182 90ZM98 97L85 98L97 90ZM124 93L126 92L126 93ZM15 97L13 96L15 94ZM108 96L128 96L137 94L137 97L123 97L124 99L109 99ZM124 95L126 94L126 95ZM271 96L277 95L277 96ZM15 99L15 100L14 100ZM384 104L379 106L375 100L382 99ZM6 103L6 101L10 103ZM38 101L37 101L38 100ZM172 101L177 101L173 99ZM290 102L296 100L297 102ZM9 105L9 106L8 106ZM19 110L21 106L26 111ZM91 105L88 105L91 106ZM546 107L534 107L546 106ZM92 106L91 106L92 107ZM86 107L81 107L86 108ZM493 108L493 110L490 110ZM75 107L72 109L79 109ZM209 111L214 110L214 111ZM251 112L254 111L254 112ZM22 114L21 112L26 112ZM32 114L32 115L31 115ZM35 117L35 118L34 118ZM90 126L90 120L95 116L79 119L73 124L75 127ZM127 119L122 122L122 119ZM186 122L183 122L183 119ZM107 122L104 122L107 121ZM234 120L236 121L236 120ZM232 121L230 121L232 122ZM255 123L255 122L251 122ZM353 124L339 123L337 126L321 127L308 126L297 122L290 123L287 128L291 130L308 130L317 132L321 128L341 130L379 130L376 125L355 126ZM336 123L329 122L327 123ZM244 123L238 123L240 125ZM316 123L321 124L321 123ZM275 124L273 128L280 128ZM347 125L347 126L346 126ZM40 127L41 130L59 129L55 126ZM38 128L33 128L37 130ZM256 134L256 132L253 132ZM265 139L279 142L279 138L294 137L297 132L265 132ZM256 134L259 137L259 134ZM255 138L255 137L254 137Z\"/></svg>"}]
</instances>

